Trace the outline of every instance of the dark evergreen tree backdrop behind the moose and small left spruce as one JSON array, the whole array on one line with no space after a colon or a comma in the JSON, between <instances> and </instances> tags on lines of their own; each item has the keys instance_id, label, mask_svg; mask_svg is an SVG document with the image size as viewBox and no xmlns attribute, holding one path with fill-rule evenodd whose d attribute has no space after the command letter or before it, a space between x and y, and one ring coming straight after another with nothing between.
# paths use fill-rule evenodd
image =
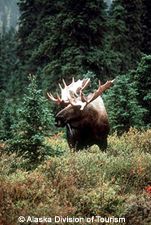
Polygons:
<instances>
[{"instance_id":1,"label":"dark evergreen tree backdrop behind the moose and small left spruce","mask_svg":"<svg viewBox=\"0 0 151 225\"><path fill-rule=\"evenodd\" d=\"M108 10L103 0L20 0L18 5L17 35L11 29L0 37L1 139L11 137L29 72L37 74L44 92L56 92L62 78L68 83L73 76L89 77L94 90L97 79L117 77L106 103L112 131L150 127L150 56L136 68L142 53L150 54L149 1L116 0Z\"/></svg>"}]
</instances>

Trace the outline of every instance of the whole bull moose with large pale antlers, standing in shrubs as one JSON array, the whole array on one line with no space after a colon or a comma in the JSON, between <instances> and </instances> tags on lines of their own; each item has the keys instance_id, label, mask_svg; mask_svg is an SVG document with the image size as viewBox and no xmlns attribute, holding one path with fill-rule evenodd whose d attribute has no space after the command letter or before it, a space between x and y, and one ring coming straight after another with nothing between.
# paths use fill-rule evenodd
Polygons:
<instances>
[{"instance_id":1,"label":"whole bull moose with large pale antlers, standing in shrubs","mask_svg":"<svg viewBox=\"0 0 151 225\"><path fill-rule=\"evenodd\" d=\"M90 79L74 81L64 87L59 84L61 97L55 98L47 93L48 98L63 109L55 117L56 126L66 127L67 141L70 148L80 150L94 144L100 149L107 148L107 136L109 133L108 115L100 95L109 89L114 80L107 81L94 93L85 95L83 90L90 84Z\"/></svg>"}]
</instances>

